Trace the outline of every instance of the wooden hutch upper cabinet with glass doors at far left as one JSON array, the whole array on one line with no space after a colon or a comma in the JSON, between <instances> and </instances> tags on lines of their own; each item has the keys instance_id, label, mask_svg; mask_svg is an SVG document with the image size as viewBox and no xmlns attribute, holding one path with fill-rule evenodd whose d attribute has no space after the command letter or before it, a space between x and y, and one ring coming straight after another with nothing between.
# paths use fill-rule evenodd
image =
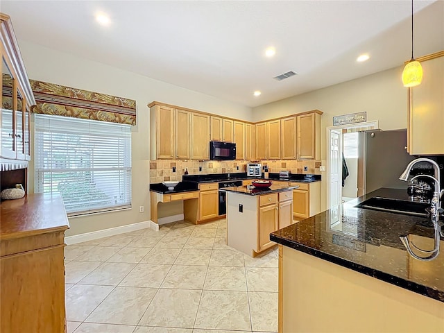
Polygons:
<instances>
[{"instance_id":1,"label":"wooden hutch upper cabinet with glass doors at far left","mask_svg":"<svg viewBox=\"0 0 444 333\"><path fill-rule=\"evenodd\" d=\"M0 13L0 19L0 157L30 160L29 110L35 99L10 17Z\"/></svg>"}]
</instances>

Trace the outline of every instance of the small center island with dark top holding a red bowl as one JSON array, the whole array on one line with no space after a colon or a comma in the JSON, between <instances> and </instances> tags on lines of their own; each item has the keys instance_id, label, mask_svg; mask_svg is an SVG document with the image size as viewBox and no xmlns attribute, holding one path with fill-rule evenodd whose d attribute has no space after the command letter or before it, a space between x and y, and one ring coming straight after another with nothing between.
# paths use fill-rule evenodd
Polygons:
<instances>
[{"instance_id":1,"label":"small center island with dark top holding a red bowl","mask_svg":"<svg viewBox=\"0 0 444 333\"><path fill-rule=\"evenodd\" d=\"M226 187L227 245L255 257L275 246L269 234L293 223L293 189L297 186Z\"/></svg>"}]
</instances>

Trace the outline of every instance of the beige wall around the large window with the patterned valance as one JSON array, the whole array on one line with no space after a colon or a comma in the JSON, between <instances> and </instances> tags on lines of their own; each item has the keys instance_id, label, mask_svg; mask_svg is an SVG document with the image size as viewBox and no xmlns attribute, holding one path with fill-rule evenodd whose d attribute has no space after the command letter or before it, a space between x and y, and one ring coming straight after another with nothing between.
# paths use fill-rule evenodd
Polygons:
<instances>
[{"instance_id":1,"label":"beige wall around the large window with the patterned valance","mask_svg":"<svg viewBox=\"0 0 444 333\"><path fill-rule=\"evenodd\" d=\"M19 40L29 78L70 87L122 96L137 101L137 126L132 128L133 209L69 219L67 236L148 221L149 209L149 109L152 101L181 105L204 112L251 121L251 109L213 96L170 85L145 76L92 62ZM33 126L33 123L31 124ZM33 130L33 127L31 127ZM31 138L33 140L33 137ZM31 161L29 191L34 190ZM145 212L139 213L139 206Z\"/></svg>"}]
</instances>

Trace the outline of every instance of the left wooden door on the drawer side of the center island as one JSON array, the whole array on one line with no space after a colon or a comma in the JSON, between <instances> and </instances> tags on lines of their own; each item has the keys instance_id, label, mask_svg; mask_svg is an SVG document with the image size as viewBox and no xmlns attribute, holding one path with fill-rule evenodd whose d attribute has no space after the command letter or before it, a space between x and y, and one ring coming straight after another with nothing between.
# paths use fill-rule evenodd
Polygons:
<instances>
[{"instance_id":1,"label":"left wooden door on the drawer side of the center island","mask_svg":"<svg viewBox=\"0 0 444 333\"><path fill-rule=\"evenodd\" d=\"M259 207L258 225L258 249L257 252L265 250L275 244L270 240L271 232L278 230L278 204Z\"/></svg>"}]
</instances>

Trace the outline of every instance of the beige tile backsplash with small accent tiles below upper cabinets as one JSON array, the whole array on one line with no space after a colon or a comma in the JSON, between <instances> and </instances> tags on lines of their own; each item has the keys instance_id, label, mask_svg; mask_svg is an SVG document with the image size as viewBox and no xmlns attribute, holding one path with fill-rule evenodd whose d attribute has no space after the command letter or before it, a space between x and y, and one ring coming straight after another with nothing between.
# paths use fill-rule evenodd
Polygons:
<instances>
[{"instance_id":1,"label":"beige tile backsplash with small accent tiles below upper cabinets","mask_svg":"<svg viewBox=\"0 0 444 333\"><path fill-rule=\"evenodd\" d=\"M247 160L235 161L193 161L193 160L151 160L150 182L157 183L167 180L182 180L185 168L189 175L205 175L208 173L246 172ZM264 160L255 161L268 167L268 172L278 173L289 170L291 173L321 174L321 161L315 160ZM305 171L305 168L307 171Z\"/></svg>"}]
</instances>

